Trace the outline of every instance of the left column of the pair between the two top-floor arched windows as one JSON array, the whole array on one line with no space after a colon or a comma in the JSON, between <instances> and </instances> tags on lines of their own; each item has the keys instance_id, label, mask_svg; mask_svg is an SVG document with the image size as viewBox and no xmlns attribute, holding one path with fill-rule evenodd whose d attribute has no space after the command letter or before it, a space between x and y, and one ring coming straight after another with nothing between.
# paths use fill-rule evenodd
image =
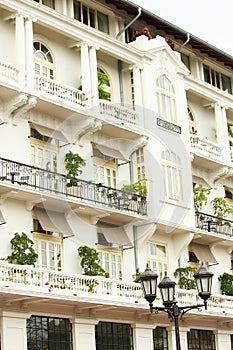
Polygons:
<instances>
[{"instance_id":1,"label":"left column of the pair between the two top-floor arched windows","mask_svg":"<svg viewBox=\"0 0 233 350\"><path fill-rule=\"evenodd\" d=\"M88 44L83 42L81 45L81 72L82 72L82 91L90 97L91 79Z\"/></svg>"}]
</instances>

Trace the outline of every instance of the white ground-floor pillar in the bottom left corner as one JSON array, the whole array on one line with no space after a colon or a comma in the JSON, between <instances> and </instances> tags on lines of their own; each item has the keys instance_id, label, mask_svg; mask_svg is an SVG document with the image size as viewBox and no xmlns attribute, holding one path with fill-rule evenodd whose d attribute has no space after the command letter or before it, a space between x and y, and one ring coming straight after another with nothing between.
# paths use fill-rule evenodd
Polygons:
<instances>
[{"instance_id":1,"label":"white ground-floor pillar in the bottom left corner","mask_svg":"<svg viewBox=\"0 0 233 350\"><path fill-rule=\"evenodd\" d=\"M27 349L26 320L29 314L22 312L2 311L0 313L1 349Z\"/></svg>"}]
</instances>

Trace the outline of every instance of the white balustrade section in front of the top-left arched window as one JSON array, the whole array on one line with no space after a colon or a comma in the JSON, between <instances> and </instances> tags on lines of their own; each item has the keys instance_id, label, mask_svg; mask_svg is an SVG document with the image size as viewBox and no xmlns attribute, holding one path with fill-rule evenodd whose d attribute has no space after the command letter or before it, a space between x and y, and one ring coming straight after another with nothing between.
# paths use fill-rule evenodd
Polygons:
<instances>
[{"instance_id":1,"label":"white balustrade section in front of the top-left arched window","mask_svg":"<svg viewBox=\"0 0 233 350\"><path fill-rule=\"evenodd\" d=\"M52 95L66 103L75 103L84 107L88 105L88 97L84 92L58 83L53 79L40 76L35 77L35 89L47 95Z\"/></svg>"}]
</instances>

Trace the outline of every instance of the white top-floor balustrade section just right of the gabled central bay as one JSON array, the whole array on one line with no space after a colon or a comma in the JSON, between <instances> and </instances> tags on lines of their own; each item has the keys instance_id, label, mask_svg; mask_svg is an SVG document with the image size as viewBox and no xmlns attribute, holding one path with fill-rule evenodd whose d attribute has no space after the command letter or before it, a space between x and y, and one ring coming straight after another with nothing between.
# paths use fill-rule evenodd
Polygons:
<instances>
[{"instance_id":1,"label":"white top-floor balustrade section just right of the gabled central bay","mask_svg":"<svg viewBox=\"0 0 233 350\"><path fill-rule=\"evenodd\" d=\"M197 151L199 154L208 158L221 159L222 148L217 143L203 139L197 135L192 135L190 140L194 152Z\"/></svg>"}]
</instances>

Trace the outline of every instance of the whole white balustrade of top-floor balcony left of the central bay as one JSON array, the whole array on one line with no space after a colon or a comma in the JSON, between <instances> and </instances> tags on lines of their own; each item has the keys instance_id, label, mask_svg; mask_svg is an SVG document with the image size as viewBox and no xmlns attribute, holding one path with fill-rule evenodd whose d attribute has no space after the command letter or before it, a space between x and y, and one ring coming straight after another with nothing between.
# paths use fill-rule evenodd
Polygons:
<instances>
[{"instance_id":1,"label":"whole white balustrade of top-floor balcony left of the central bay","mask_svg":"<svg viewBox=\"0 0 233 350\"><path fill-rule=\"evenodd\" d=\"M19 70L12 64L0 61L0 83L5 86L10 86L18 90L19 88ZM25 86L27 88L27 86ZM28 92L28 88L27 88ZM67 86L61 82L46 77L35 76L34 78L34 91L31 95L38 94L40 100L48 101L49 103L55 103L61 107L61 116L64 115L64 106L68 109L79 109L79 111L85 111L90 108L91 113L101 120L108 120L111 123L118 122L127 125L139 125L139 115L133 110L107 102L99 100L97 106L92 106L92 97L86 95L81 90ZM7 93L6 93L6 96ZM9 97L9 96L8 96ZM40 101L38 102L38 104ZM49 106L42 104L40 108L48 111ZM58 111L57 111L58 113ZM63 116L64 117L64 116Z\"/></svg>"}]
</instances>

